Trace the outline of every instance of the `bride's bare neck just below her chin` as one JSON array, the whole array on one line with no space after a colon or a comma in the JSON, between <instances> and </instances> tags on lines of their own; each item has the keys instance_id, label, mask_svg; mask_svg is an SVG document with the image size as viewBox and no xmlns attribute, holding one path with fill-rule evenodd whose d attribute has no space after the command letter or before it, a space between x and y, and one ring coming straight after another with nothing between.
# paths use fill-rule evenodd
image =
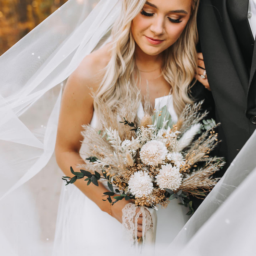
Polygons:
<instances>
[{"instance_id":1,"label":"bride's bare neck just below her chin","mask_svg":"<svg viewBox=\"0 0 256 256\"><path fill-rule=\"evenodd\" d=\"M142 51L137 45L135 46L136 65L139 70L151 71L162 65L162 54L151 56Z\"/></svg>"}]
</instances>

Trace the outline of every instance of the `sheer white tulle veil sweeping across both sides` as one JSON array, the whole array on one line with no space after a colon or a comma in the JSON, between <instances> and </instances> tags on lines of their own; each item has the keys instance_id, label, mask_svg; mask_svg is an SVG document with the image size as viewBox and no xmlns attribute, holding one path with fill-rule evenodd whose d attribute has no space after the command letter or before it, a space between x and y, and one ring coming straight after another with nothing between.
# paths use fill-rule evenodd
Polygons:
<instances>
[{"instance_id":1,"label":"sheer white tulle veil sweeping across both sides","mask_svg":"<svg viewBox=\"0 0 256 256\"><path fill-rule=\"evenodd\" d=\"M65 189L54 157L62 89L82 59L109 39L121 12L121 0L97 2L69 0L0 57L1 255L52 253L60 191ZM253 255L255 152L256 133L173 243L161 250L181 256ZM86 221L81 217L75 225ZM77 234L81 246L86 235L86 230ZM74 248L69 247L69 255L75 255ZM118 246L106 248L108 255Z\"/></svg>"}]
</instances>

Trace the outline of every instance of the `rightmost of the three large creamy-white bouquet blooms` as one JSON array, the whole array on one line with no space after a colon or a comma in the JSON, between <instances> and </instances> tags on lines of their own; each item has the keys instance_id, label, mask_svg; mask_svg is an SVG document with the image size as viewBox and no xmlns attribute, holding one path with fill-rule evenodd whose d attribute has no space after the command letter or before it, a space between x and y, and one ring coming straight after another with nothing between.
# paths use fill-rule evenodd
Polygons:
<instances>
[{"instance_id":1,"label":"rightmost of the three large creamy-white bouquet blooms","mask_svg":"<svg viewBox=\"0 0 256 256\"><path fill-rule=\"evenodd\" d=\"M162 165L159 174L156 176L156 182L160 189L176 190L182 184L182 174L179 168L172 167L171 164Z\"/></svg>"}]
</instances>

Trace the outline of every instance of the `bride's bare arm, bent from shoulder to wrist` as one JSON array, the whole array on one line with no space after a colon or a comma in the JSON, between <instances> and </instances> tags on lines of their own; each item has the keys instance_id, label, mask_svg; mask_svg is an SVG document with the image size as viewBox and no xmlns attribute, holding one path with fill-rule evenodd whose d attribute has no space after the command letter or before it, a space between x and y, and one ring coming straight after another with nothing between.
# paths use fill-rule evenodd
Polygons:
<instances>
[{"instance_id":1,"label":"bride's bare arm, bent from shoulder to wrist","mask_svg":"<svg viewBox=\"0 0 256 256\"><path fill-rule=\"evenodd\" d=\"M82 125L90 123L93 116L93 98L90 87L97 89L93 66L95 63L91 63L90 58L85 59L68 78L63 92L55 154L57 163L65 176L73 176L70 166L74 171L79 171L77 165L83 163L79 155L80 141L83 141ZM95 202L102 211L122 222L122 208L129 202L119 201L111 206L110 210L110 203L102 200L102 195L107 189L101 183L98 187L93 184L87 186L86 182L80 179L73 185Z\"/></svg>"}]
</instances>

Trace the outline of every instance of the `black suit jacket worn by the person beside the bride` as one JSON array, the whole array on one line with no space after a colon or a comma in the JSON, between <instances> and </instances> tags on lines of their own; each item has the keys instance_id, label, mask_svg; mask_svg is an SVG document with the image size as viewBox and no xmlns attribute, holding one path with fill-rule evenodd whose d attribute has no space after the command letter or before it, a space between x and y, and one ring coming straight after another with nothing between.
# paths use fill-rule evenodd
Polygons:
<instances>
[{"instance_id":1,"label":"black suit jacket worn by the person beside the bride","mask_svg":"<svg viewBox=\"0 0 256 256\"><path fill-rule=\"evenodd\" d=\"M198 13L200 46L221 122L219 155L227 167L256 129L256 48L248 1L201 0Z\"/></svg>"}]
</instances>

